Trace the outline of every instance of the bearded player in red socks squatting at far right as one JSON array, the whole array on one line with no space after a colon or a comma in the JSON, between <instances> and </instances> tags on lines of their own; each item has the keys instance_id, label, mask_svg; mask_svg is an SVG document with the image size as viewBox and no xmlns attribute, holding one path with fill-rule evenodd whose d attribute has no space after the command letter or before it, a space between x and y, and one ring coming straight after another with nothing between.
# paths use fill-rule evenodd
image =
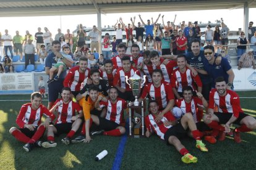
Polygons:
<instances>
[{"instance_id":1,"label":"bearded player in red socks squatting at far right","mask_svg":"<svg viewBox=\"0 0 256 170\"><path fill-rule=\"evenodd\" d=\"M218 112L214 112L215 105ZM210 92L208 114L204 116L203 121L213 128L211 138L215 138L218 133L219 139L224 140L226 132L230 132L230 124L240 125L233 130L234 141L241 143L240 132L250 132L256 129L256 120L242 111L239 96L236 92L227 88L223 77L215 80L215 89ZM224 124L222 126L221 124Z\"/></svg>"}]
</instances>

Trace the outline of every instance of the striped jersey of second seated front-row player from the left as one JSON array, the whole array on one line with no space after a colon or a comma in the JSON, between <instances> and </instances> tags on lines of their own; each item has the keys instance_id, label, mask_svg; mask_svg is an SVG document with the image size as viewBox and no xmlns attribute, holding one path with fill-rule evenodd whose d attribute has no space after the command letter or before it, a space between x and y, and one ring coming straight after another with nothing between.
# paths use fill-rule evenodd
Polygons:
<instances>
[{"instance_id":1,"label":"striped jersey of second seated front-row player from the left","mask_svg":"<svg viewBox=\"0 0 256 170\"><path fill-rule=\"evenodd\" d=\"M58 102L61 102L62 104L56 108L56 110L58 110L58 119L55 124L72 123L71 118L72 116L75 116L75 111L79 112L82 110L79 103L73 102L72 100L65 104L62 99L57 99L54 105Z\"/></svg>"}]
</instances>

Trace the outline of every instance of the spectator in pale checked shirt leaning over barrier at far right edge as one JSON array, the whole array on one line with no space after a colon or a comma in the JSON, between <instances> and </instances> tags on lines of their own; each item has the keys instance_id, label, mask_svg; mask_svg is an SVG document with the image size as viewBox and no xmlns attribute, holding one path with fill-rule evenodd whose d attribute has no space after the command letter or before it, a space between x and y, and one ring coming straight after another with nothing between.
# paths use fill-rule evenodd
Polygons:
<instances>
[{"instance_id":1,"label":"spectator in pale checked shirt leaning over barrier at far right edge","mask_svg":"<svg viewBox=\"0 0 256 170\"><path fill-rule=\"evenodd\" d=\"M241 68L251 67L255 69L254 49L248 49L244 54L242 54L238 62L238 70Z\"/></svg>"}]
</instances>

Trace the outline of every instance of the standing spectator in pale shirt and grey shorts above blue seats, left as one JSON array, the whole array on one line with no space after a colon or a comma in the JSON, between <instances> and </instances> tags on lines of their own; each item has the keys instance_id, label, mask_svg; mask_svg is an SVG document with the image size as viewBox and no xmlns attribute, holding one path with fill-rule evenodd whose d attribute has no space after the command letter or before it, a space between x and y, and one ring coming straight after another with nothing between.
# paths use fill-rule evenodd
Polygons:
<instances>
[{"instance_id":1,"label":"standing spectator in pale shirt and grey shorts above blue seats, left","mask_svg":"<svg viewBox=\"0 0 256 170\"><path fill-rule=\"evenodd\" d=\"M27 42L28 43L24 46L25 68L27 68L29 61L31 64L35 65L35 46L32 44L31 39L27 39Z\"/></svg>"}]
</instances>

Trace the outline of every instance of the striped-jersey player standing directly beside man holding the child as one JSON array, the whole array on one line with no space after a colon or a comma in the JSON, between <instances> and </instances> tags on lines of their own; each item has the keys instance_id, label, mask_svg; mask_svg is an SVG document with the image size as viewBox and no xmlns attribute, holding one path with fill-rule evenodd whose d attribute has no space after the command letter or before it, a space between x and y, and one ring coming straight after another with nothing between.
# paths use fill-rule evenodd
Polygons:
<instances>
[{"instance_id":1,"label":"striped-jersey player standing directly beside man holding the child","mask_svg":"<svg viewBox=\"0 0 256 170\"><path fill-rule=\"evenodd\" d=\"M71 68L64 79L64 87L70 87L74 97L79 94L83 81L88 77L90 78L90 69L87 65L88 59L86 57L80 57L79 66Z\"/></svg>"}]
</instances>

